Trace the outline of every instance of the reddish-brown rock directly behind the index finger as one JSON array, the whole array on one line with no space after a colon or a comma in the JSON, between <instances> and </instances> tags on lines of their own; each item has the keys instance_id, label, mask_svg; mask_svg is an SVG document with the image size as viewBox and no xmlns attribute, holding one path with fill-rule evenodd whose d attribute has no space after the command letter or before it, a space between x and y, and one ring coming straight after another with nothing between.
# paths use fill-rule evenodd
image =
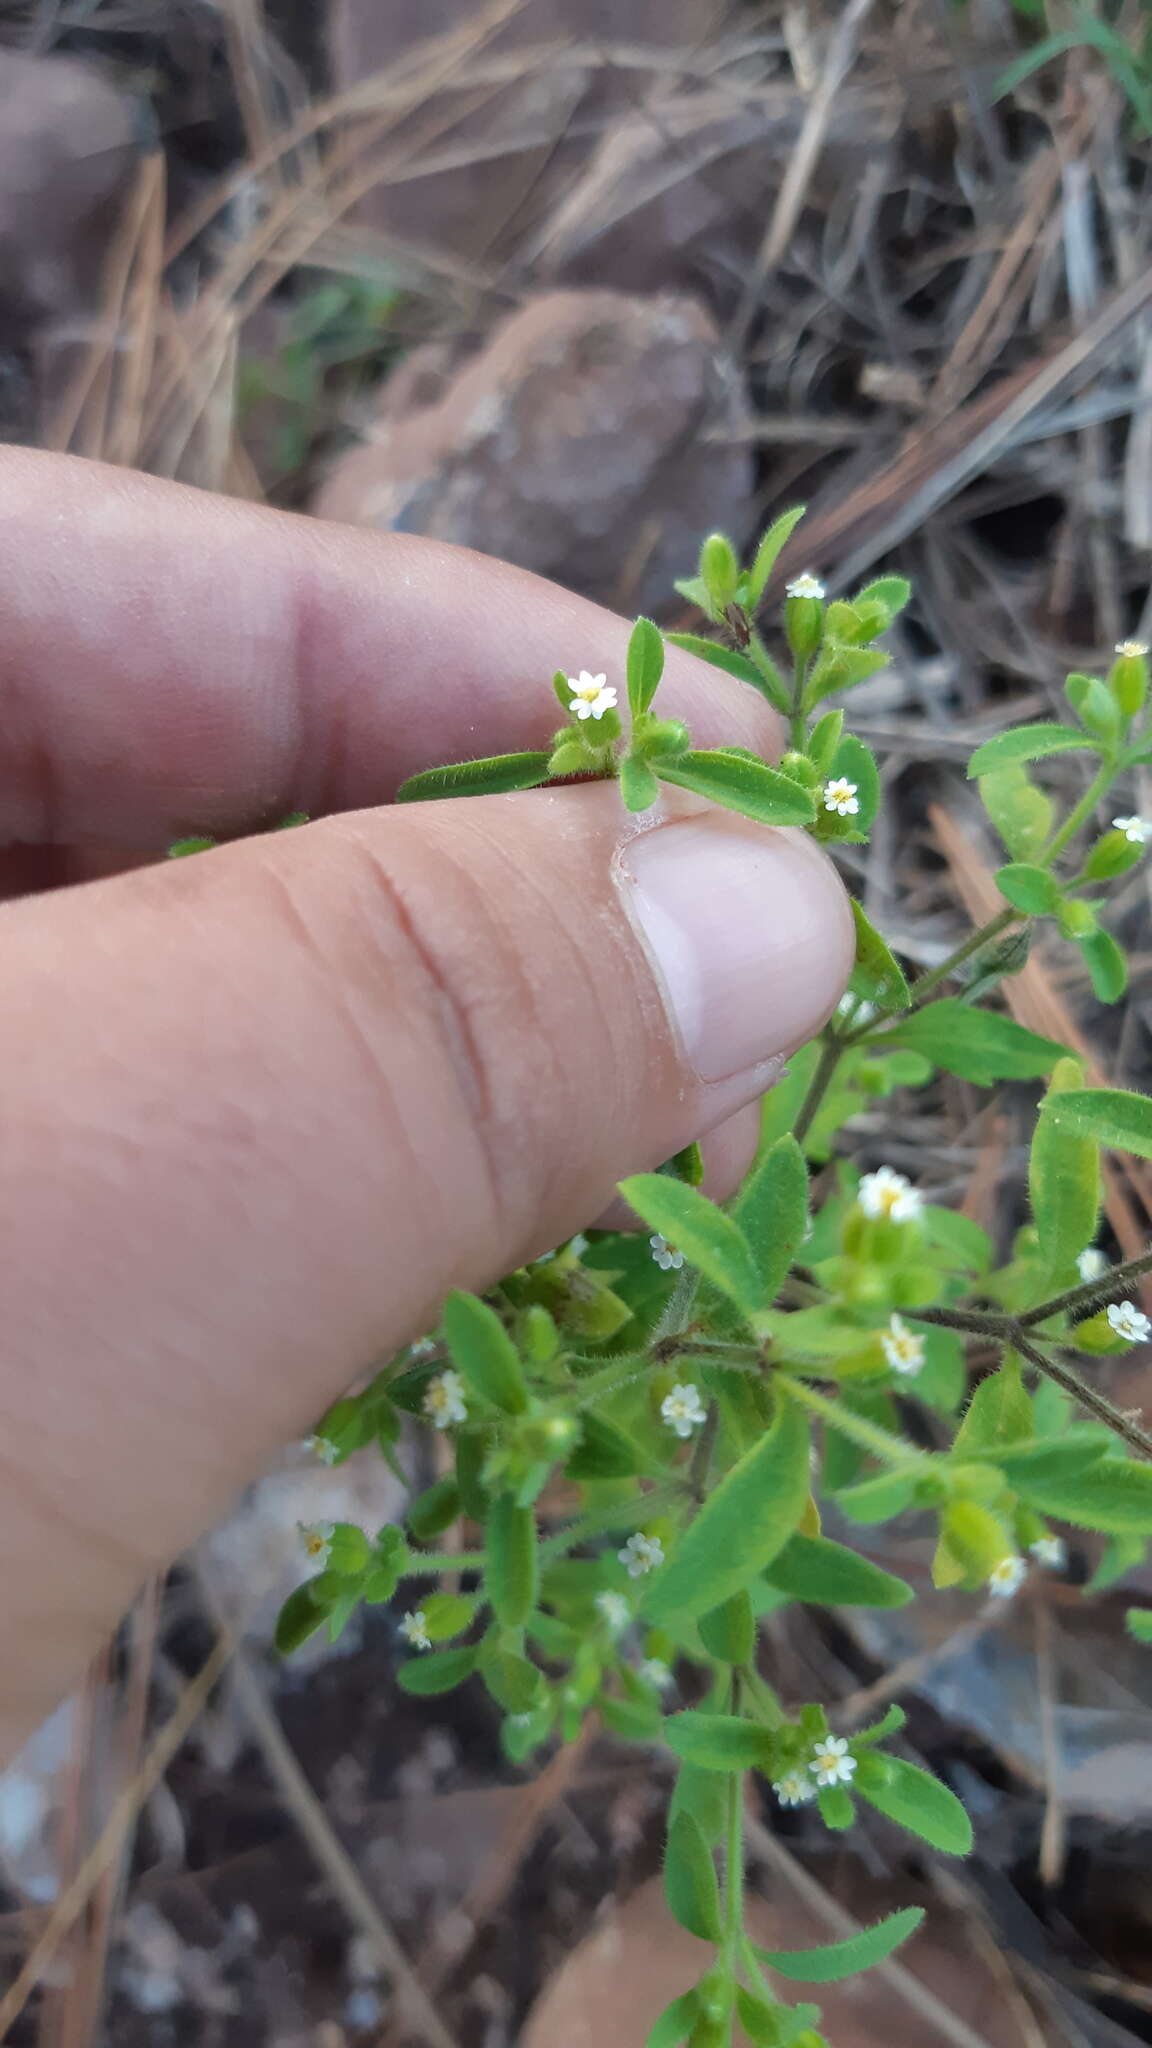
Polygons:
<instances>
[{"instance_id":1,"label":"reddish-brown rock directly behind the index finger","mask_svg":"<svg viewBox=\"0 0 1152 2048\"><path fill-rule=\"evenodd\" d=\"M322 518L474 547L623 610L666 602L711 526L748 522L748 449L726 440L740 381L691 299L545 293L453 377L416 358L402 379Z\"/></svg>"}]
</instances>

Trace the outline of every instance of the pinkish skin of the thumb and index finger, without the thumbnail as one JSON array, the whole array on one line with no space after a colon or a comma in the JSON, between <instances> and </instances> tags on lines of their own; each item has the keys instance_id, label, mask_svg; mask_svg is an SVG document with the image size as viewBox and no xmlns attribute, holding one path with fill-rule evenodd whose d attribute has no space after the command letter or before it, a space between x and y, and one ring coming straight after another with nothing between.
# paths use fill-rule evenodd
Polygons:
<instances>
[{"instance_id":1,"label":"pinkish skin of the thumb and index finger, without the thumbnail","mask_svg":"<svg viewBox=\"0 0 1152 2048\"><path fill-rule=\"evenodd\" d=\"M621 678L625 641L476 555L0 457L0 1751L449 1286L693 1135L715 1192L742 1171L767 1069L687 1059L615 791L387 807L545 743L541 678ZM687 655L662 709L779 752ZM164 862L189 831L248 838ZM812 944L765 1061L851 965L830 866L773 838Z\"/></svg>"}]
</instances>

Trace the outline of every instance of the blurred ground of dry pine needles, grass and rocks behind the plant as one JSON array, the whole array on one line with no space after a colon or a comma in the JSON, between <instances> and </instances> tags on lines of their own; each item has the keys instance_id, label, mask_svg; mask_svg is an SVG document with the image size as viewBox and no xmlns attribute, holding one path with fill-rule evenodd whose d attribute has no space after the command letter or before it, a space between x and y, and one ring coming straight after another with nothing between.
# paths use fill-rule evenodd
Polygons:
<instances>
[{"instance_id":1,"label":"blurred ground of dry pine needles, grass and rocks behind the plant","mask_svg":"<svg viewBox=\"0 0 1152 2048\"><path fill-rule=\"evenodd\" d=\"M0 432L621 610L703 524L806 500L781 578L914 582L857 694L888 807L847 858L931 967L992 889L968 752L1152 639L1150 115L1146 0L6 0ZM1011 1001L1148 1085L1144 868L1117 903L1121 1012L1043 946ZM1023 1108L945 1079L883 1157L931 1147L1004 1243ZM1150 1212L1152 1178L1117 1178L1111 1247ZM0 2040L633 2048L687 1982L658 1753L590 1731L531 1780L480 1690L396 1692L387 1614L269 1653L295 1524L379 1485L285 1456L0 1780ZM974 1614L900 1544L922 1602L789 1608L775 1683L845 1724L900 1698L978 1853L777 1817L775 1946L931 1907L828 1995L836 2048L1152 2042L1152 1661L1123 1634L1152 1571L1084 1599L1078 1538L1064 1579Z\"/></svg>"}]
</instances>

